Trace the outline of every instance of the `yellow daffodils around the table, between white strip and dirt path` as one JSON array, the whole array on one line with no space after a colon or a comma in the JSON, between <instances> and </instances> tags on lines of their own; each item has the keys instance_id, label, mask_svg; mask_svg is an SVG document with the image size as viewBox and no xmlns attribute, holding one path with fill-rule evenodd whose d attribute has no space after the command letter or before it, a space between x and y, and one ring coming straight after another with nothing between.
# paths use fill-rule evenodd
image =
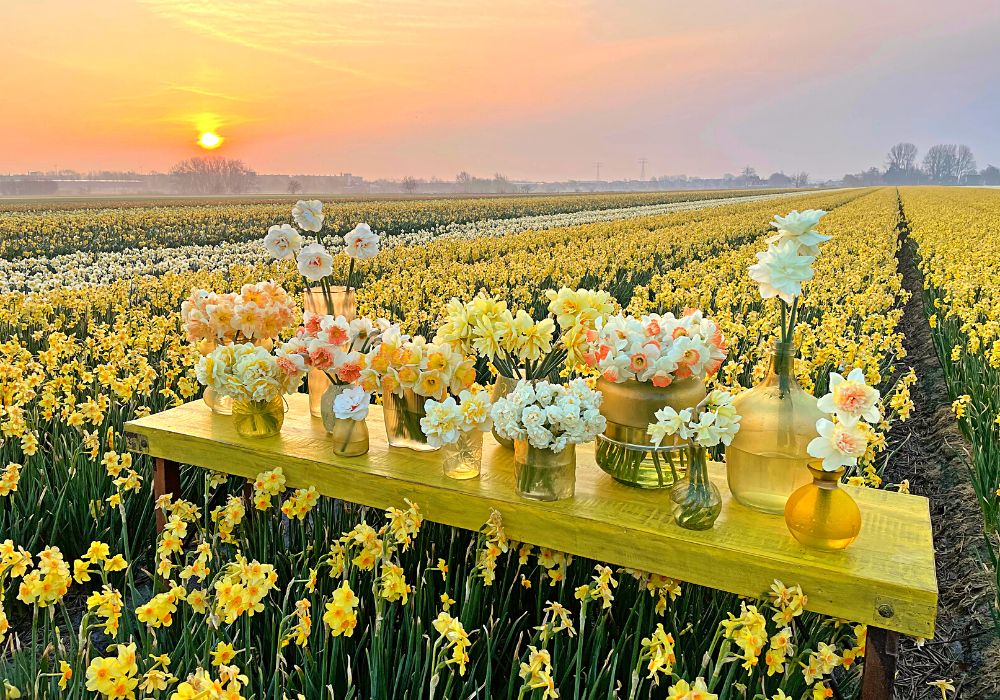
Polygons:
<instances>
[{"instance_id":1,"label":"yellow daffodils around the table, between white strip and dirt path","mask_svg":"<svg viewBox=\"0 0 1000 700\"><path fill-rule=\"evenodd\" d=\"M866 296L852 281L835 298L831 282L823 300L844 311L828 327L810 321L818 339L803 341L804 354L815 358L812 348L822 347L831 364L843 355L888 376L898 355L893 304L901 298L887 272L890 199L820 193L397 248L372 263L360 304L393 312L412 330L436 324L451 296L479 289L539 309L547 300L537 291L563 284L653 303L667 293L667 270L680 274L694 260L762 247L775 210L832 208L835 233L846 239L863 228L876 240L870 248L828 248L837 251L830 257L881 291ZM699 281L714 285L713 298L742 277L727 269L728 278ZM794 587L776 584L770 597L761 592L765 600L742 604L696 587L681 595L664 575L512 543L500 515L477 537L421 523L412 505L383 517L308 489L288 493L275 470L255 481L246 503L237 480L191 469L185 500L157 504L168 527L156 538L150 465L125 452L122 424L197 396L195 354L176 311L191 287L223 291L262 278L293 284L295 274L287 263L262 262L228 275L0 300L0 502L9 506L0 508L0 539L10 538L0 548L0 587L17 579L6 597L0 593L0 634L18 638L0 661L8 695L342 697L353 689L390 698L433 688L435 697L468 697L488 687L496 697L554 697L557 688L606 697L619 685L640 694L657 682L678 699L742 697L740 688L768 698L826 697L834 683L851 694L864 629L803 614L804 594ZM639 284L656 291L635 294ZM753 321L741 330L737 313L733 306L727 330L738 343L749 347L754 334L767 334ZM838 333L850 339L838 344ZM737 363L749 367L747 353ZM76 621L68 613L80 602L87 613ZM323 625L313 624L313 610Z\"/></svg>"}]
</instances>

